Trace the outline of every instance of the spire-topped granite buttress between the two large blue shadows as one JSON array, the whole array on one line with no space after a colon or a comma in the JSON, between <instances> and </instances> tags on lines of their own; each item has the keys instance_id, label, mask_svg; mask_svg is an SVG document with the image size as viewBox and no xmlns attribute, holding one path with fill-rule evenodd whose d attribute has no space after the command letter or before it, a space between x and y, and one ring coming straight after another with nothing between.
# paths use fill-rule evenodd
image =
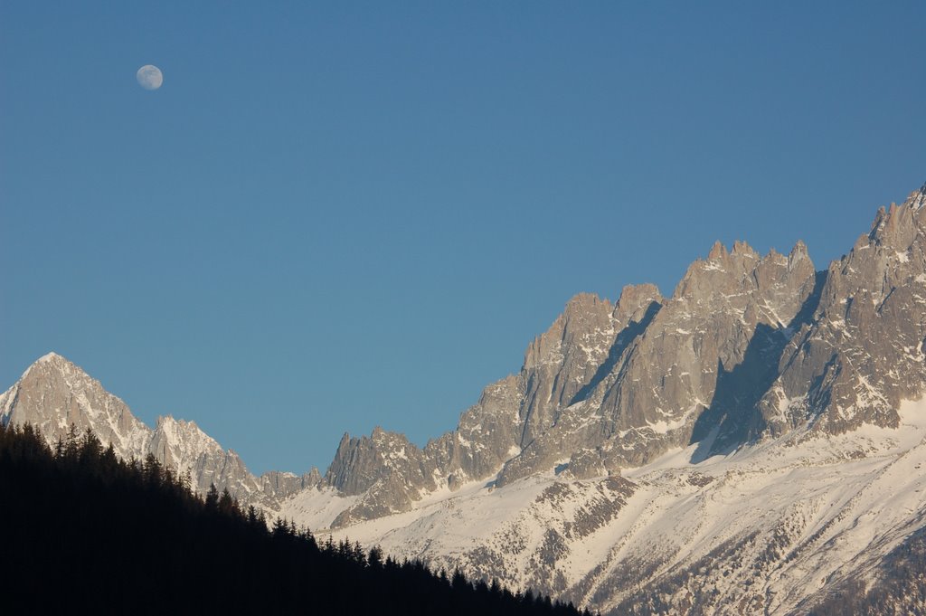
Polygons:
<instances>
[{"instance_id":1,"label":"spire-topped granite buttress between the two large blue shadows","mask_svg":"<svg viewBox=\"0 0 926 616\"><path fill-rule=\"evenodd\" d=\"M556 423L507 462L499 483L578 452L574 461L581 462L582 475L590 463L611 472L639 466L689 443L705 413L720 425L729 409L720 405L719 383L735 368L743 372L747 358L756 363L756 352L766 356L758 369L777 365L767 347L783 345L815 281L802 244L787 257L772 251L764 258L745 243L729 252L714 245L707 260L689 267L669 300L635 302L593 386L584 387ZM709 433L701 432L698 437Z\"/></svg>"}]
</instances>

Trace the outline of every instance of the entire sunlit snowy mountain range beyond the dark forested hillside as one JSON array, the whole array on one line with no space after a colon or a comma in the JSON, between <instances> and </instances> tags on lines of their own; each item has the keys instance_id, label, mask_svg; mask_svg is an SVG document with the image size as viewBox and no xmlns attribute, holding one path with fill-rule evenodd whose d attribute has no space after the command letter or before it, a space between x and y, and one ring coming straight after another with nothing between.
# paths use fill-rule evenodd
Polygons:
<instances>
[{"instance_id":1,"label":"entire sunlit snowy mountain range beyond the dark forested hillside","mask_svg":"<svg viewBox=\"0 0 926 616\"><path fill-rule=\"evenodd\" d=\"M345 434L323 479L255 478L193 423L152 431L54 355L0 417L595 610L807 613L882 584L926 527L926 185L826 270L802 243L718 244L670 297L577 295L456 430Z\"/></svg>"}]
</instances>

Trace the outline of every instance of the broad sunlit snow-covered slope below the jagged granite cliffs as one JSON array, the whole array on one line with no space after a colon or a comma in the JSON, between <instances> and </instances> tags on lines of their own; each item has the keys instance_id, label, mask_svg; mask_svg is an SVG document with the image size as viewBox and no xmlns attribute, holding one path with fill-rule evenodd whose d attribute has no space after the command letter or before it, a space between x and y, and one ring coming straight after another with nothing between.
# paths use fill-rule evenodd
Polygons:
<instances>
[{"instance_id":1,"label":"broad sunlit snow-covered slope below the jagged granite cliffs","mask_svg":"<svg viewBox=\"0 0 926 616\"><path fill-rule=\"evenodd\" d=\"M467 484L332 534L596 610L792 613L844 578L873 579L926 523L926 400L900 417L696 463L689 446L622 476ZM313 490L282 513L321 530L350 504Z\"/></svg>"}]
</instances>

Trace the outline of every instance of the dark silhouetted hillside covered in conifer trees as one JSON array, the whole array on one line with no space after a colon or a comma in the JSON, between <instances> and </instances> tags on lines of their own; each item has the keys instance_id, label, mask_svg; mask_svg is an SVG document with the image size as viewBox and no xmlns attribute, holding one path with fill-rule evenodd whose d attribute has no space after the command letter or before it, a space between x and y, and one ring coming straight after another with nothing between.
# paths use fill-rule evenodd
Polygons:
<instances>
[{"instance_id":1,"label":"dark silhouetted hillside covered in conifer trees","mask_svg":"<svg viewBox=\"0 0 926 616\"><path fill-rule=\"evenodd\" d=\"M574 614L348 542L316 542L91 434L0 429L3 613Z\"/></svg>"}]
</instances>

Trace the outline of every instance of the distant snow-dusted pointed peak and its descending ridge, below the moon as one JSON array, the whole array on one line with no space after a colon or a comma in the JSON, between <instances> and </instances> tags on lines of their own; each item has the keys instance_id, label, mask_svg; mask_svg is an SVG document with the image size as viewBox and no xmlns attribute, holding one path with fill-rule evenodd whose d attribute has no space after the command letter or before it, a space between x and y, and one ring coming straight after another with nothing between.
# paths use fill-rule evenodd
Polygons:
<instances>
[{"instance_id":1,"label":"distant snow-dusted pointed peak and its descending ridge, below the moon","mask_svg":"<svg viewBox=\"0 0 926 616\"><path fill-rule=\"evenodd\" d=\"M112 444L122 459L144 459L153 454L162 464L180 474L189 472L193 487L206 493L210 484L228 489L244 504L273 511L279 499L304 489L320 477L315 471L304 480L275 473L258 479L231 449L219 444L193 421L172 417L157 419L154 430L131 414L117 396L66 358L50 353L36 361L17 383L0 396L0 418L4 425L31 423L49 444L67 439L70 426L78 434L90 429L104 445Z\"/></svg>"}]
</instances>

